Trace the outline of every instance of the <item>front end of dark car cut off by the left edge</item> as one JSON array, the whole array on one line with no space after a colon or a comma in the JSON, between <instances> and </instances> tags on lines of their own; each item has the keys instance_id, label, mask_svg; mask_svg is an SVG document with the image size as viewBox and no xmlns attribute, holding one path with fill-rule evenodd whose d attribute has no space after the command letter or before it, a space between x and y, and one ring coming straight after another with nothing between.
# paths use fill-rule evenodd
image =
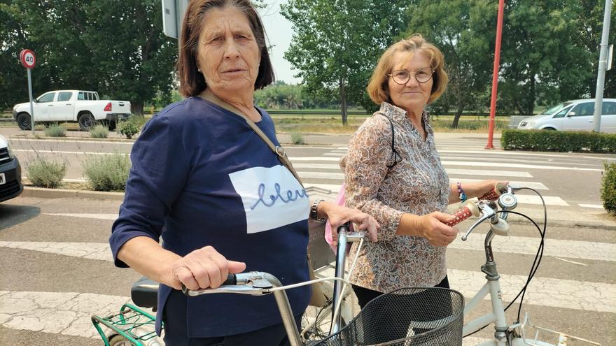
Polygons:
<instances>
[{"instance_id":1,"label":"front end of dark car cut off by the left edge","mask_svg":"<svg viewBox=\"0 0 616 346\"><path fill-rule=\"evenodd\" d=\"M19 196L24 190L22 168L8 147L8 140L0 136L0 202Z\"/></svg>"}]
</instances>

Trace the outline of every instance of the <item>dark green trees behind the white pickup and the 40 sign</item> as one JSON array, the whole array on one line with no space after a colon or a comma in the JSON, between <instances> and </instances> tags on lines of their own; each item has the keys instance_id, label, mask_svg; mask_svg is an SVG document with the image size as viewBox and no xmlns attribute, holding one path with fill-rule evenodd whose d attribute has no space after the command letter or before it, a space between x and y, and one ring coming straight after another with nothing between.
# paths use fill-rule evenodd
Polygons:
<instances>
[{"instance_id":1,"label":"dark green trees behind the white pickup and the 40 sign","mask_svg":"<svg viewBox=\"0 0 616 346\"><path fill-rule=\"evenodd\" d=\"M146 101L173 87L177 43L162 34L161 17L156 0L4 0L0 19L8 25L0 32L7 39L0 55L10 67L2 69L0 81L10 87L0 89L6 95L0 102L6 107L27 99L27 87L19 87L25 71L18 55L30 48L38 61L35 96L91 89L131 101L133 112L141 113Z\"/></svg>"}]
</instances>

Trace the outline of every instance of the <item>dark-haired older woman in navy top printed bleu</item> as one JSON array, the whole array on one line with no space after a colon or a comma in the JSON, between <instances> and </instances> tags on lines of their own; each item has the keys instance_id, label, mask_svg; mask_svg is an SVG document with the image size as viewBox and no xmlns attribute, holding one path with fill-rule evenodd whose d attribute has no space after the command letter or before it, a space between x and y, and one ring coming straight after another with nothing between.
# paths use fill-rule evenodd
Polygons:
<instances>
[{"instance_id":1,"label":"dark-haired older woman in navy top printed bleu","mask_svg":"<svg viewBox=\"0 0 616 346\"><path fill-rule=\"evenodd\" d=\"M271 296L188 298L179 289L218 287L241 271L307 281L309 217L355 222L374 239L378 225L359 210L311 202L251 127L279 146L271 117L253 104L274 71L250 1L190 1L179 46L187 99L153 117L134 143L109 240L116 266L161 283L157 324L160 333L165 322L166 345L282 345ZM288 291L296 318L309 297L309 287Z\"/></svg>"}]
</instances>

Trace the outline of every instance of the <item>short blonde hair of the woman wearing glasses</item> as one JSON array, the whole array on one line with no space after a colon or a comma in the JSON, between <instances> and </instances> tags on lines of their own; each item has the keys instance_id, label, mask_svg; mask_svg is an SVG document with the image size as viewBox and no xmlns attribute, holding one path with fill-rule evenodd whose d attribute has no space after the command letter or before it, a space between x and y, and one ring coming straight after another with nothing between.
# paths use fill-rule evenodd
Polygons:
<instances>
[{"instance_id":1,"label":"short blonde hair of the woman wearing glasses","mask_svg":"<svg viewBox=\"0 0 616 346\"><path fill-rule=\"evenodd\" d=\"M393 70L393 56L397 52L410 52L413 54L414 52L422 52L428 56L428 59L430 59L430 67L435 71L432 76L434 82L428 103L432 103L438 99L445 91L447 81L449 80L447 73L444 71L444 57L442 52L432 43L428 43L421 34L413 34L408 38L403 38L393 43L393 45L390 45L383 55L381 55L366 88L370 99L377 104L381 104L385 101L391 102L387 80L389 78L388 75Z\"/></svg>"}]
</instances>

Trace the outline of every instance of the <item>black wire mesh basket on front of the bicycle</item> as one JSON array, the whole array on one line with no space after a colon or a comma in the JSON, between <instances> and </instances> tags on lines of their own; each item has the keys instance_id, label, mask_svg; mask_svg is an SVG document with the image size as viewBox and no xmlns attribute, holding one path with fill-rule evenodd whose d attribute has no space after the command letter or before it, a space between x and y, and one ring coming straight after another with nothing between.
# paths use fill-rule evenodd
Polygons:
<instances>
[{"instance_id":1,"label":"black wire mesh basket on front of the bicycle","mask_svg":"<svg viewBox=\"0 0 616 346\"><path fill-rule=\"evenodd\" d=\"M464 297L440 287L411 287L367 303L343 329L318 346L462 345Z\"/></svg>"}]
</instances>

